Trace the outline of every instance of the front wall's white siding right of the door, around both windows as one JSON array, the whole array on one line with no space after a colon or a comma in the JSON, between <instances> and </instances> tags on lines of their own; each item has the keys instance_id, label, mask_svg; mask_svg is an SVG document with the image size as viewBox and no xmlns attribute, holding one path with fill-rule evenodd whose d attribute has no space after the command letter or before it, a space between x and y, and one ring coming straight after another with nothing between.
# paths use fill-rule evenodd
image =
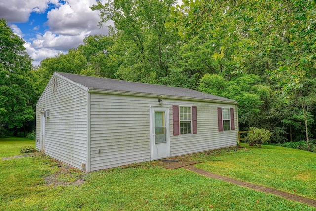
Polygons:
<instances>
[{"instance_id":1,"label":"front wall's white siding right of the door, around both windows","mask_svg":"<svg viewBox=\"0 0 316 211\"><path fill-rule=\"evenodd\" d=\"M197 106L197 134L173 135L172 109L170 109L170 155L197 153L236 145L236 105L207 102L174 101L174 105ZM218 131L217 107L234 108L235 130Z\"/></svg>"}]
</instances>

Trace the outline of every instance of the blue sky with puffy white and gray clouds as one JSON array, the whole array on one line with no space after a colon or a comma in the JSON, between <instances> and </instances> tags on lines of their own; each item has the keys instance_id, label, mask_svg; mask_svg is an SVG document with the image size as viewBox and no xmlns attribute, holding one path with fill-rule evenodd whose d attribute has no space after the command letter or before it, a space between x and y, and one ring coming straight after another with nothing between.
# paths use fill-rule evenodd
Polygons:
<instances>
[{"instance_id":1,"label":"blue sky with puffy white and gray clouds","mask_svg":"<svg viewBox=\"0 0 316 211\"><path fill-rule=\"evenodd\" d=\"M98 27L96 0L0 0L0 18L26 42L33 66L47 57L67 53L83 44L89 35L107 35L107 25Z\"/></svg>"}]
</instances>

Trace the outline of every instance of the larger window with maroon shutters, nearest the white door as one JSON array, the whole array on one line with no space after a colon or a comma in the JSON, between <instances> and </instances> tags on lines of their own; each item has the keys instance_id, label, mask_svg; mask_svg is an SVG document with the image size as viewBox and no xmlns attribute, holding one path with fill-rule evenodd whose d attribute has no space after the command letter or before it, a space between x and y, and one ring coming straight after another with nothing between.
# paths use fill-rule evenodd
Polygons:
<instances>
[{"instance_id":1,"label":"larger window with maroon shutters, nearest the white door","mask_svg":"<svg viewBox=\"0 0 316 211\"><path fill-rule=\"evenodd\" d=\"M174 105L172 113L173 135L197 134L197 106Z\"/></svg>"}]
</instances>

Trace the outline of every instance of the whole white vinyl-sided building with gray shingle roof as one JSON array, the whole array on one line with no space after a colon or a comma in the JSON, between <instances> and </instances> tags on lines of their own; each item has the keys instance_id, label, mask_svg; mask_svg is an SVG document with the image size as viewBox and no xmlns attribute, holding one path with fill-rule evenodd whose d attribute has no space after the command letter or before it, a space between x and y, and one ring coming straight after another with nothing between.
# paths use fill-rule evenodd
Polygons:
<instances>
[{"instance_id":1,"label":"whole white vinyl-sided building with gray shingle roof","mask_svg":"<svg viewBox=\"0 0 316 211\"><path fill-rule=\"evenodd\" d=\"M85 172L234 146L235 100L55 72L36 105L36 147Z\"/></svg>"}]
</instances>

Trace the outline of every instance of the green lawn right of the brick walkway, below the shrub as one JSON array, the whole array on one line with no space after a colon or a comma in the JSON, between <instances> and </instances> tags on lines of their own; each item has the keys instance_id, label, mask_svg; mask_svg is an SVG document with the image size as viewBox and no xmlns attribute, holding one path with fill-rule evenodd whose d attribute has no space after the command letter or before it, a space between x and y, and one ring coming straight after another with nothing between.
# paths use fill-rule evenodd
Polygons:
<instances>
[{"instance_id":1,"label":"green lawn right of the brick walkway, below the shrub","mask_svg":"<svg viewBox=\"0 0 316 211\"><path fill-rule=\"evenodd\" d=\"M192 159L204 161L196 165L200 169L316 199L316 153L243 146L243 150L196 154Z\"/></svg>"}]
</instances>

